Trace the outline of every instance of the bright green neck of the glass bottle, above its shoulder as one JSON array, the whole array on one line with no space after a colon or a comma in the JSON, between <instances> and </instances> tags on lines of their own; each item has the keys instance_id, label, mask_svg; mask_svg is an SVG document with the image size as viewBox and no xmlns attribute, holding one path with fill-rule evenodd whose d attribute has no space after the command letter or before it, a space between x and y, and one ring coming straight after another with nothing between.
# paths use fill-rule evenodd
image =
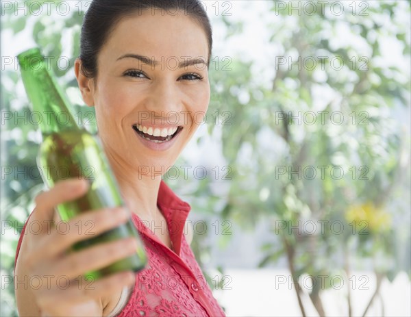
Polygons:
<instances>
[{"instance_id":1,"label":"bright green neck of the glass bottle, above its shoulder","mask_svg":"<svg viewBox=\"0 0 411 317\"><path fill-rule=\"evenodd\" d=\"M79 129L69 111L69 103L48 71L38 49L18 55L25 90L32 102L32 114L40 116L39 125L43 134L49 135L67 129Z\"/></svg>"}]
</instances>

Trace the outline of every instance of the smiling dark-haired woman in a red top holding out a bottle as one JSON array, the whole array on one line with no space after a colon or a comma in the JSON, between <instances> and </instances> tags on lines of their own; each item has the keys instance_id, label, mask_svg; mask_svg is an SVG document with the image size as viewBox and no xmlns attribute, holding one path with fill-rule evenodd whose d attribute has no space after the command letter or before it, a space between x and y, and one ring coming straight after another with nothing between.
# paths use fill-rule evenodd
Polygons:
<instances>
[{"instance_id":1,"label":"smiling dark-haired woman in a red top holding out a bottle","mask_svg":"<svg viewBox=\"0 0 411 317\"><path fill-rule=\"evenodd\" d=\"M95 107L99 137L149 265L91 287L75 279L129 256L135 241L67 255L69 246L89 238L74 224L86 229L91 220L95 233L102 233L124 223L125 210L82 214L65 235L54 229L22 233L15 268L20 316L224 316L185 238L190 207L161 180L195 133L199 112L208 108L211 48L210 23L198 1L92 1L75 75L84 102ZM80 180L57 183L36 197L27 223L53 220L56 205L86 188ZM34 276L41 287L18 287L22 277ZM70 277L68 287L56 283L62 276Z\"/></svg>"}]
</instances>

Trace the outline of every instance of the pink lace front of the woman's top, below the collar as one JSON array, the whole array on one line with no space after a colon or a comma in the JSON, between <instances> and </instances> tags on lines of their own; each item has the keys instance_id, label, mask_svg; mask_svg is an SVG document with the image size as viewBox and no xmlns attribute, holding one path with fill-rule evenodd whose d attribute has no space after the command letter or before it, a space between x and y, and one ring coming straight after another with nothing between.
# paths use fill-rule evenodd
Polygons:
<instances>
[{"instance_id":1,"label":"pink lace front of the woman's top, below the collar","mask_svg":"<svg viewBox=\"0 0 411 317\"><path fill-rule=\"evenodd\" d=\"M135 214L133 222L141 228ZM134 290L118 317L225 316L185 237L179 248L181 256L175 253L174 256L164 244L153 240L150 233L147 227L140 231L149 263L145 270L136 273Z\"/></svg>"}]
</instances>

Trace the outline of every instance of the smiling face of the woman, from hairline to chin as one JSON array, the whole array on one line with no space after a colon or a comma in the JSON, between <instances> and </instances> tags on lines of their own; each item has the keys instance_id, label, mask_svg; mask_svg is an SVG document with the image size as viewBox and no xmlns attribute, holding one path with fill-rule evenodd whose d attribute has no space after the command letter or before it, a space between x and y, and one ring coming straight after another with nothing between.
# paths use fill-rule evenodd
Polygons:
<instances>
[{"instance_id":1,"label":"smiling face of the woman, from hairline to chin","mask_svg":"<svg viewBox=\"0 0 411 317\"><path fill-rule=\"evenodd\" d=\"M184 12L153 11L116 25L91 92L105 151L150 177L174 164L210 101L205 31Z\"/></svg>"}]
</instances>

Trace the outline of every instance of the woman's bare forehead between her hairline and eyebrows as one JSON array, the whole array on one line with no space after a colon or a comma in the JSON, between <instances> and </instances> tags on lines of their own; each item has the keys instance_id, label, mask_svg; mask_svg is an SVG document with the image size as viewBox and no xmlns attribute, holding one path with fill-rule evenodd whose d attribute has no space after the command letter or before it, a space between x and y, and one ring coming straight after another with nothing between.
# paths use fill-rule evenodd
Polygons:
<instances>
[{"instance_id":1,"label":"woman's bare forehead between her hairline and eyebrows","mask_svg":"<svg viewBox=\"0 0 411 317\"><path fill-rule=\"evenodd\" d=\"M99 59L116 59L125 53L161 58L208 58L206 32L184 12L136 12L121 18L101 49Z\"/></svg>"}]
</instances>

